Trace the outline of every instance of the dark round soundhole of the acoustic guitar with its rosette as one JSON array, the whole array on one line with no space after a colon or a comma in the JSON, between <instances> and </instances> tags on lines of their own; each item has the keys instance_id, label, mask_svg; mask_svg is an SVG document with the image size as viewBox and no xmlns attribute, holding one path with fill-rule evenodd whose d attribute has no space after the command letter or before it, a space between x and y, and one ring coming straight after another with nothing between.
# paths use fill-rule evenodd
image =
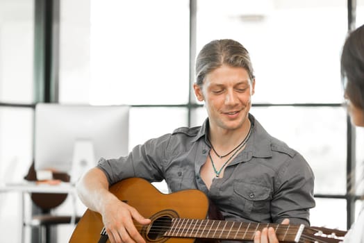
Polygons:
<instances>
[{"instance_id":1,"label":"dark round soundhole of the acoustic guitar with its rosette","mask_svg":"<svg viewBox=\"0 0 364 243\"><path fill-rule=\"evenodd\" d=\"M168 237L164 237L164 234L171 228L172 219L177 218L179 215L174 210L163 210L153 215L151 224L144 227L142 235L147 242L162 243L168 240Z\"/></svg>"}]
</instances>

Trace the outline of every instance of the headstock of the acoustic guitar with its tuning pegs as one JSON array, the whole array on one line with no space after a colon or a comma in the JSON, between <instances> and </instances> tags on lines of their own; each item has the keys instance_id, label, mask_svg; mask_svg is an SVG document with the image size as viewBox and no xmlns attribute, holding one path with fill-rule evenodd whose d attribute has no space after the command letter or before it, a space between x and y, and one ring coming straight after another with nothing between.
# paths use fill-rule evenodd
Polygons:
<instances>
[{"instance_id":1,"label":"headstock of the acoustic guitar with its tuning pegs","mask_svg":"<svg viewBox=\"0 0 364 243\"><path fill-rule=\"evenodd\" d=\"M305 227L301 234L301 240L304 242L324 242L338 243L342 242L347 231L339 231L324 227Z\"/></svg>"}]
</instances>

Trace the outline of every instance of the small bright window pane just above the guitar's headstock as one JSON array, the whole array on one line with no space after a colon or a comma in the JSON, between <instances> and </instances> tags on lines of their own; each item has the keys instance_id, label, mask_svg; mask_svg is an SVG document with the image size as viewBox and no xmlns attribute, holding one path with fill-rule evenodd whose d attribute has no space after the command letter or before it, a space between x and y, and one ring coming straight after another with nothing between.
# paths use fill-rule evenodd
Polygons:
<instances>
[{"instance_id":1,"label":"small bright window pane just above the guitar's headstock","mask_svg":"<svg viewBox=\"0 0 364 243\"><path fill-rule=\"evenodd\" d=\"M347 230L347 203L345 199L315 199L311 209L311 226Z\"/></svg>"}]
</instances>

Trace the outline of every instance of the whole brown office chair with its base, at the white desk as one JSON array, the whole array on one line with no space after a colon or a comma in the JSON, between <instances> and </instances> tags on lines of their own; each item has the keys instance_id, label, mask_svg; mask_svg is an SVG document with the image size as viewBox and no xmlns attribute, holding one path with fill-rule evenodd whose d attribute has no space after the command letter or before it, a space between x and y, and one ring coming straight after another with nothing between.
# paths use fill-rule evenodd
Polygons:
<instances>
[{"instance_id":1,"label":"whole brown office chair with its base, at the white desk","mask_svg":"<svg viewBox=\"0 0 364 243\"><path fill-rule=\"evenodd\" d=\"M70 176L65 173L53 172L53 178L60 181L69 182ZM28 181L37 181L34 162L24 177ZM23 222L24 226L38 228L40 242L51 242L51 226L59 224L77 224L81 219L78 215L53 215L51 210L60 206L68 194L65 193L31 193L31 201L40 208L40 214L32 215L31 219ZM23 227L24 227L23 226Z\"/></svg>"}]
</instances>

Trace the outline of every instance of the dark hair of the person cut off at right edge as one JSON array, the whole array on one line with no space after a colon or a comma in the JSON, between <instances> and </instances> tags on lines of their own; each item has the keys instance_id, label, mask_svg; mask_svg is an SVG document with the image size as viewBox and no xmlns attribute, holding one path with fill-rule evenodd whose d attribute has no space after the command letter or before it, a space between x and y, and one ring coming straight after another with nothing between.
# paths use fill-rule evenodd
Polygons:
<instances>
[{"instance_id":1,"label":"dark hair of the person cut off at right edge","mask_svg":"<svg viewBox=\"0 0 364 243\"><path fill-rule=\"evenodd\" d=\"M364 109L364 25L348 35L340 62L345 94L354 106Z\"/></svg>"}]
</instances>

